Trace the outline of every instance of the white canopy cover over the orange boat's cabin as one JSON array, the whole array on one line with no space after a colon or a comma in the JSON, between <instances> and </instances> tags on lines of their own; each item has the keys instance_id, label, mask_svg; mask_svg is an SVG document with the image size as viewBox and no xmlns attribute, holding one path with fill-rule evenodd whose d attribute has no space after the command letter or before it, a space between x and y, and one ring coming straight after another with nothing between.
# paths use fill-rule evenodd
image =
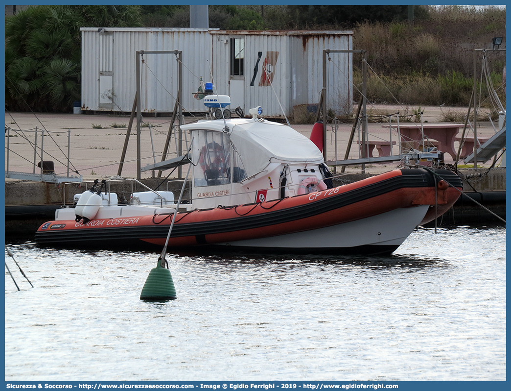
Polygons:
<instances>
[{"instance_id":1,"label":"white canopy cover over the orange boat's cabin","mask_svg":"<svg viewBox=\"0 0 511 391\"><path fill-rule=\"evenodd\" d=\"M251 119L231 119L227 120L226 124L230 130L228 136L243 162L247 177L261 172L271 161L283 163L323 162L323 155L317 146L287 125ZM202 141L204 137L200 134L204 131L216 131L222 134L225 125L224 121L213 120L182 125L181 128L191 131L192 134L199 132L199 134L195 133L196 156L199 156L201 144L204 144Z\"/></svg>"}]
</instances>

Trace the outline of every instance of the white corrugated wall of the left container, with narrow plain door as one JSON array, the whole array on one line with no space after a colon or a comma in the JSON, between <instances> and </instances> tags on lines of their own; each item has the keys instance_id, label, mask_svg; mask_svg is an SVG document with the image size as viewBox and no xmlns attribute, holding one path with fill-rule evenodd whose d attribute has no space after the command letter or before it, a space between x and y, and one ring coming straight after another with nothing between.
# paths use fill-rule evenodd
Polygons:
<instances>
[{"instance_id":1,"label":"white corrugated wall of the left container, with narrow plain door","mask_svg":"<svg viewBox=\"0 0 511 391\"><path fill-rule=\"evenodd\" d=\"M199 77L210 77L207 29L82 28L82 110L131 112L136 92L136 51L182 51L183 109L204 112L193 98ZM101 32L100 32L101 31ZM178 89L174 54L146 54L141 67L142 111L170 113Z\"/></svg>"}]
</instances>

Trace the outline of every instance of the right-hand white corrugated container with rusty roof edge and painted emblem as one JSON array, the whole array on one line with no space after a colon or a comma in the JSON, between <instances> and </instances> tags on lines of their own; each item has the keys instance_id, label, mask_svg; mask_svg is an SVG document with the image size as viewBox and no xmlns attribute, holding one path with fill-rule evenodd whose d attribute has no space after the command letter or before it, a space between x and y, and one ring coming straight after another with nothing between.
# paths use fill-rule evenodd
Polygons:
<instances>
[{"instance_id":1,"label":"right-hand white corrugated container with rusty roof edge and painted emblem","mask_svg":"<svg viewBox=\"0 0 511 391\"><path fill-rule=\"evenodd\" d=\"M352 49L352 31L214 31L213 70L219 94L231 96L246 115L263 106L266 117L290 116L296 105L319 102L323 85L324 49ZM230 40L244 40L243 84L230 75ZM353 100L351 54L332 54L327 68L328 103L339 114L350 112ZM264 70L267 70L267 73ZM236 86L235 86L236 85ZM242 91L240 91L242 90ZM234 97L237 99L234 99ZM311 106L312 105L312 106Z\"/></svg>"}]
</instances>

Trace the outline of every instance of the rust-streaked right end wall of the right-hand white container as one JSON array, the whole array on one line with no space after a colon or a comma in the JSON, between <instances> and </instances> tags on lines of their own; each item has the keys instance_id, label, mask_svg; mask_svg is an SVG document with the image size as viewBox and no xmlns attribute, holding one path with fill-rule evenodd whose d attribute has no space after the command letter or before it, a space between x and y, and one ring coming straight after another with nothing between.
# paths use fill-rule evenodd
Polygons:
<instances>
[{"instance_id":1,"label":"rust-streaked right end wall of the right-hand white container","mask_svg":"<svg viewBox=\"0 0 511 391\"><path fill-rule=\"evenodd\" d=\"M323 87L323 50L352 50L352 31L311 31L290 35L291 91L289 108L319 103ZM360 55L359 55L360 56ZM351 53L331 53L327 57L327 103L337 114L349 114L353 107L353 67ZM360 58L361 59L361 58Z\"/></svg>"}]
</instances>

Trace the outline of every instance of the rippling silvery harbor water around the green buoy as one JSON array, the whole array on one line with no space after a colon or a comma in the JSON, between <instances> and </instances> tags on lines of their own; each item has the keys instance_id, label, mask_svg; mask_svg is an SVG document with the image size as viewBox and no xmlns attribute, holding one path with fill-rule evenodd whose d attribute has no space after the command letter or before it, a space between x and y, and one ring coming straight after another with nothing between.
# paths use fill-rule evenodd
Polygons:
<instances>
[{"instance_id":1,"label":"rippling silvery harbor water around the green buoy","mask_svg":"<svg viewBox=\"0 0 511 391\"><path fill-rule=\"evenodd\" d=\"M7 244L6 381L506 380L505 227L393 255L158 254Z\"/></svg>"}]
</instances>

